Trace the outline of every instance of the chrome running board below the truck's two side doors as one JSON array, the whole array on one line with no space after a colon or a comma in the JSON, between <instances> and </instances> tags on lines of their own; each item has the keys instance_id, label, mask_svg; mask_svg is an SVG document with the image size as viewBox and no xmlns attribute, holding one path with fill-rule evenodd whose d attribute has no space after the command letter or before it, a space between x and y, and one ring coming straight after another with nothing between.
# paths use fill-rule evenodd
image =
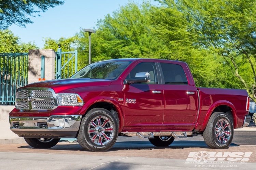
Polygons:
<instances>
[{"instance_id":1,"label":"chrome running board below the truck's two side doors","mask_svg":"<svg viewBox=\"0 0 256 170\"><path fill-rule=\"evenodd\" d=\"M192 132L122 132L126 136L138 136L142 139L154 138L154 136L173 136L175 138L186 138Z\"/></svg>"}]
</instances>

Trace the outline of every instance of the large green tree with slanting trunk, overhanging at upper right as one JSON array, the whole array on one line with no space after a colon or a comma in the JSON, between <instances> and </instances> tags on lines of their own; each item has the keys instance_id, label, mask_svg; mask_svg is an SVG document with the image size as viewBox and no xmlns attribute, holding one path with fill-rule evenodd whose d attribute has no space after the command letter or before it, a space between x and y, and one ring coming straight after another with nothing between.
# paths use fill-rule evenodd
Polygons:
<instances>
[{"instance_id":1,"label":"large green tree with slanting trunk, overhanging at upper right","mask_svg":"<svg viewBox=\"0 0 256 170\"><path fill-rule=\"evenodd\" d=\"M162 6L153 8L155 14L161 14L154 15L159 19L156 24L158 32L166 30L166 37L174 36L177 44L186 41L197 49L216 53L222 59L222 66L225 69L229 67L232 76L242 82L248 95L256 102L253 96L256 86L256 1L158 1Z\"/></svg>"}]
</instances>

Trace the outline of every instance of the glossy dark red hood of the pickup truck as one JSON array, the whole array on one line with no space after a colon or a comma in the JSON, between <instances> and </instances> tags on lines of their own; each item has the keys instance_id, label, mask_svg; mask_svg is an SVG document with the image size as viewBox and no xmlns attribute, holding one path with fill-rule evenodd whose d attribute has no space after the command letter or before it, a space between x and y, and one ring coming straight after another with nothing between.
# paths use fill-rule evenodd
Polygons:
<instances>
[{"instance_id":1,"label":"glossy dark red hood of the pickup truck","mask_svg":"<svg viewBox=\"0 0 256 170\"><path fill-rule=\"evenodd\" d=\"M82 88L82 87L109 86L111 83L112 83L112 80L106 80L106 79L88 79L88 78L60 79L60 80L48 80L43 82L31 83L22 88L46 87L46 88L52 88L56 93L58 93L58 92L66 92L71 89Z\"/></svg>"}]
</instances>

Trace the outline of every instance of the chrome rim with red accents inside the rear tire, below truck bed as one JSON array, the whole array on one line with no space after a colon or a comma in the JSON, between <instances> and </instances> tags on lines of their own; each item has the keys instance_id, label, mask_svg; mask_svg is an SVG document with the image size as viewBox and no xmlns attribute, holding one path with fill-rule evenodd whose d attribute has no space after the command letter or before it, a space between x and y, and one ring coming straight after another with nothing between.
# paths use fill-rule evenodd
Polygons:
<instances>
[{"instance_id":1,"label":"chrome rim with red accents inside the rear tire, below truck bed","mask_svg":"<svg viewBox=\"0 0 256 170\"><path fill-rule=\"evenodd\" d=\"M215 135L219 143L225 144L231 137L231 127L226 119L219 119L215 125Z\"/></svg>"}]
</instances>

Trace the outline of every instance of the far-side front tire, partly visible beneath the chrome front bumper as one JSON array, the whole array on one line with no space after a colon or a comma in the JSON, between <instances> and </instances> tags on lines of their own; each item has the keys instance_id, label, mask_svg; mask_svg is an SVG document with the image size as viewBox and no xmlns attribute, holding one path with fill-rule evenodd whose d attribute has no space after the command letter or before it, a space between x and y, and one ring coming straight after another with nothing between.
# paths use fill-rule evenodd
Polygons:
<instances>
[{"instance_id":1,"label":"far-side front tire, partly visible beneath the chrome front bumper","mask_svg":"<svg viewBox=\"0 0 256 170\"><path fill-rule=\"evenodd\" d=\"M47 149L54 147L60 139L46 139L42 140L41 138L24 138L29 146L38 149Z\"/></svg>"}]
</instances>

